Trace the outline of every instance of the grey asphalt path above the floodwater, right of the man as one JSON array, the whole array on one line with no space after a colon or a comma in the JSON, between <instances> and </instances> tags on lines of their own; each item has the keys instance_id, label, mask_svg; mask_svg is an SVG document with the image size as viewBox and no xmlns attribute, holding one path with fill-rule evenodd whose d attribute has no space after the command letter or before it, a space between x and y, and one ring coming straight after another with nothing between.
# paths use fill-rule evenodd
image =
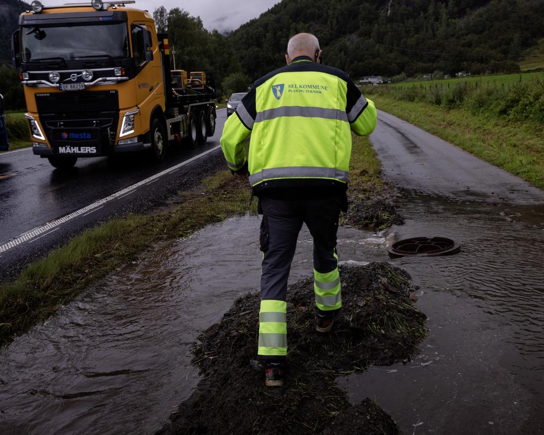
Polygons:
<instances>
[{"instance_id":1,"label":"grey asphalt path above the floodwater, right of the man","mask_svg":"<svg viewBox=\"0 0 544 435\"><path fill-rule=\"evenodd\" d=\"M370 140L386 178L399 188L466 201L543 204L544 191L384 111Z\"/></svg>"}]
</instances>

